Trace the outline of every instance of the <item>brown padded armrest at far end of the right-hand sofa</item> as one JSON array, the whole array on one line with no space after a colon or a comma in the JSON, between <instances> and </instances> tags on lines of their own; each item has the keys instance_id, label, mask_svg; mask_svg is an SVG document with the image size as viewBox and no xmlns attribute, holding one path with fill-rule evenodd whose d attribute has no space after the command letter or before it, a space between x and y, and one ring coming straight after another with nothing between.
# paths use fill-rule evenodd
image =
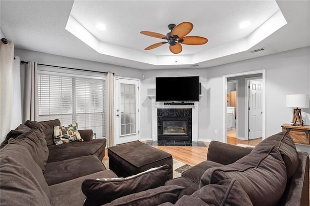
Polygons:
<instances>
[{"instance_id":1,"label":"brown padded armrest at far end of the right-hand sofa","mask_svg":"<svg viewBox=\"0 0 310 206\"><path fill-rule=\"evenodd\" d=\"M229 145L222 142L210 142L207 154L207 160L220 164L231 164L246 156L252 151L252 148Z\"/></svg>"}]
</instances>

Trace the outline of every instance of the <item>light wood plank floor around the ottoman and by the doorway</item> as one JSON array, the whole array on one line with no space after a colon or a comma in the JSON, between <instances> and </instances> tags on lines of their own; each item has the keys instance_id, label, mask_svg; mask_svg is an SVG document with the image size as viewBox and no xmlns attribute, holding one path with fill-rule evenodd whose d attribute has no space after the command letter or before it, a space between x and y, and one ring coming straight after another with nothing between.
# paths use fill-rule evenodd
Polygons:
<instances>
[{"instance_id":1,"label":"light wood plank floor around the ottoman and by the doorway","mask_svg":"<svg viewBox=\"0 0 310 206\"><path fill-rule=\"evenodd\" d=\"M234 140L235 139L235 140ZM262 138L260 140L249 140L249 141L242 141L237 140L236 138L228 138L227 143L231 145L237 145L237 144L243 144L243 145L250 145L250 146L256 146L258 143L262 141ZM141 141L143 143L146 143L146 141ZM155 147L157 149L160 149L162 151L168 152L172 155L172 158L181 162L184 162L188 165L194 166L196 164L199 164L200 162L203 162L207 158L207 152L208 152L208 142L203 142L206 147L181 147L181 146L151 146ZM104 157L104 160L108 160L108 149L106 149L106 154Z\"/></svg>"}]
</instances>

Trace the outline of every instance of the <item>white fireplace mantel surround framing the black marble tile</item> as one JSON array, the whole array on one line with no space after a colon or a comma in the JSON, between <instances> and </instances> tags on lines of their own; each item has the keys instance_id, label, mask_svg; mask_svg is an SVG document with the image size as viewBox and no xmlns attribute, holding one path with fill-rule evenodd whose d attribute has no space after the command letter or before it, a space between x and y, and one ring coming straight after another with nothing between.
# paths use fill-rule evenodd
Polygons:
<instances>
[{"instance_id":1,"label":"white fireplace mantel surround framing the black marble tile","mask_svg":"<svg viewBox=\"0 0 310 206\"><path fill-rule=\"evenodd\" d=\"M155 97L151 97L151 99L152 99L152 141L158 140L157 139L158 131L161 130L160 128L161 125L158 125L159 122L158 120L160 119L160 116L158 117L158 115L162 115L163 113L166 112L173 113L175 116L187 116L187 117L191 116L190 118L188 118L188 121L191 122L191 139L193 142L198 141L198 102L194 102L194 105L164 105L163 102L156 102ZM190 133L190 131L188 133Z\"/></svg>"}]
</instances>

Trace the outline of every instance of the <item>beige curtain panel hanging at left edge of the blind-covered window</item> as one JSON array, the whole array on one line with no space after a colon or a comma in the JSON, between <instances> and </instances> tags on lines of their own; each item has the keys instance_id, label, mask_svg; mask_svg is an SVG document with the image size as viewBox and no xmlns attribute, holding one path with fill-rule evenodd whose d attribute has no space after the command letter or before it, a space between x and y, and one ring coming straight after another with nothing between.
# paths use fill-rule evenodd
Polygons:
<instances>
[{"instance_id":1,"label":"beige curtain panel hanging at left edge of the blind-covered window","mask_svg":"<svg viewBox=\"0 0 310 206\"><path fill-rule=\"evenodd\" d=\"M38 65L29 61L25 67L23 121L39 120L38 115Z\"/></svg>"}]
</instances>

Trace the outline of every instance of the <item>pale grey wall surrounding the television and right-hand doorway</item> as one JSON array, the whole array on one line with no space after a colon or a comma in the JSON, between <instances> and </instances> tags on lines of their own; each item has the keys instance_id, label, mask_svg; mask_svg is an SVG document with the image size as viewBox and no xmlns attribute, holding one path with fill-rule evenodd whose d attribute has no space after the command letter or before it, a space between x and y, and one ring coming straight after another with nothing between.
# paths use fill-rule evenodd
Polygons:
<instances>
[{"instance_id":1,"label":"pale grey wall surrounding the television and right-hand doorway","mask_svg":"<svg viewBox=\"0 0 310 206\"><path fill-rule=\"evenodd\" d=\"M266 70L266 137L281 132L281 125L292 121L292 108L286 108L287 94L310 93L310 47L294 49L255 59L207 69L144 71L141 91L141 137L151 137L151 100L156 76L199 75L202 99L199 103L199 139L223 140L223 75ZM215 134L215 130L218 131Z\"/></svg>"}]
</instances>

